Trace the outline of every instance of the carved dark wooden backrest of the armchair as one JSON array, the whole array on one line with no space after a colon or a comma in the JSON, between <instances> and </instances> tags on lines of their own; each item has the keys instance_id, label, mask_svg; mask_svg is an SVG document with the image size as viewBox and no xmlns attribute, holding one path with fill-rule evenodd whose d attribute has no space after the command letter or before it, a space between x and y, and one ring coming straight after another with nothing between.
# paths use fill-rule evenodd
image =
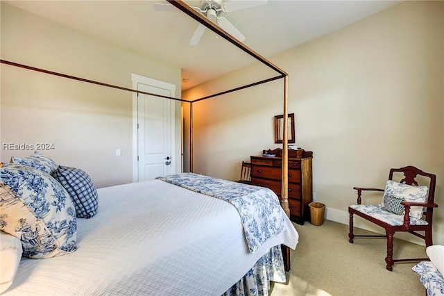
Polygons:
<instances>
[{"instance_id":1,"label":"carved dark wooden backrest of the armchair","mask_svg":"<svg viewBox=\"0 0 444 296\"><path fill-rule=\"evenodd\" d=\"M407 167L401 167L399 169L391 169L390 174L388 175L389 180L393 180L393 174L395 172L401 172L404 174L404 178L401 179L399 183L418 186L419 185L418 179L425 179L425 182L427 182L428 184L423 184L423 185L429 188L429 196L427 197L427 204L434 203L436 175L422 172L422 170L418 169L417 167L407 166ZM425 220L427 222L432 221L432 213L433 213L433 208L427 208L427 212L425 213Z\"/></svg>"}]
</instances>

